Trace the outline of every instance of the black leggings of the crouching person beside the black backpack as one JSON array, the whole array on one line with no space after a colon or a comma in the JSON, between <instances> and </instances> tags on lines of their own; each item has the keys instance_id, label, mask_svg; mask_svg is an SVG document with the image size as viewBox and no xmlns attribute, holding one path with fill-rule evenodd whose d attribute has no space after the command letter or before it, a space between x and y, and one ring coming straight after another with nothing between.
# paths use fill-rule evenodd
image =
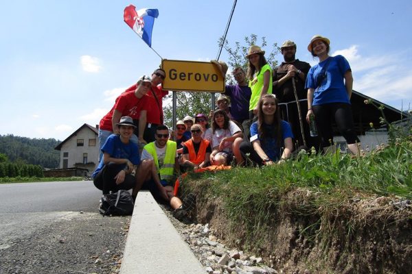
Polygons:
<instances>
[{"instance_id":1,"label":"black leggings of the crouching person beside the black backpack","mask_svg":"<svg viewBox=\"0 0 412 274\"><path fill-rule=\"evenodd\" d=\"M135 176L126 174L124 181L121 184L116 184L115 176L124 167L123 164L106 164L103 169L93 178L93 183L96 188L103 190L103 194L108 192L117 192L120 189L129 190L136 185Z\"/></svg>"}]
</instances>

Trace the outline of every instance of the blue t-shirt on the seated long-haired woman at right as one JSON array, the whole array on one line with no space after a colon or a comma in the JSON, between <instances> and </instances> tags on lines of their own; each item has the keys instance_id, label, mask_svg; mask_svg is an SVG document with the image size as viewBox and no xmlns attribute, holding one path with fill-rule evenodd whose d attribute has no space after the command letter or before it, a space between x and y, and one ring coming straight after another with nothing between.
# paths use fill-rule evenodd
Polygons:
<instances>
[{"instance_id":1,"label":"blue t-shirt on the seated long-haired woman at right","mask_svg":"<svg viewBox=\"0 0 412 274\"><path fill-rule=\"evenodd\" d=\"M273 137L266 137L262 140L259 136L258 122L256 121L251 125L251 142L254 140L260 140L260 146L262 147L264 153L268 155L268 158L271 158L271 160L275 162L280 158L281 148L277 147L274 125L263 124L263 126L265 127L266 132L273 132ZM283 140L286 138L293 138L292 128L288 122L282 120L280 121L280 126L282 127Z\"/></svg>"}]
</instances>

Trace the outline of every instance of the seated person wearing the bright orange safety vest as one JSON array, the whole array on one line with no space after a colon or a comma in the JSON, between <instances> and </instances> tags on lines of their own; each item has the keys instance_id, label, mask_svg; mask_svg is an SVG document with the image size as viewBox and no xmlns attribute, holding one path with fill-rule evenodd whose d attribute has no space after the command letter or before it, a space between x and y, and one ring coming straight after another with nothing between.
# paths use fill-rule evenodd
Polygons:
<instances>
[{"instance_id":1,"label":"seated person wearing the bright orange safety vest","mask_svg":"<svg viewBox=\"0 0 412 274\"><path fill-rule=\"evenodd\" d=\"M190 132L192 132L192 138L183 145L182 165L196 171L209 165L211 148L209 141L202 138L201 125L192 125Z\"/></svg>"}]
</instances>

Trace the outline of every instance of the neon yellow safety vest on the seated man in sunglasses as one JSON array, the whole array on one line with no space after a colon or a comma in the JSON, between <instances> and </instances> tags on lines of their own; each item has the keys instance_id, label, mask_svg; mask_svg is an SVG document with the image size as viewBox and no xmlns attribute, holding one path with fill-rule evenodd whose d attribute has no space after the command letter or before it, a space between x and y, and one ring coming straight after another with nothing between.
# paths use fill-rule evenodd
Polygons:
<instances>
[{"instance_id":1,"label":"neon yellow safety vest on the seated man in sunglasses","mask_svg":"<svg viewBox=\"0 0 412 274\"><path fill-rule=\"evenodd\" d=\"M168 140L168 142L166 143L166 155L163 159L163 165L160 169L159 160L157 160L155 142L150 142L148 145L145 145L144 149L146 149L146 151L148 151L148 153L153 156L157 172L160 174L160 179L172 179L174 171L174 158L176 156L176 142Z\"/></svg>"}]
</instances>

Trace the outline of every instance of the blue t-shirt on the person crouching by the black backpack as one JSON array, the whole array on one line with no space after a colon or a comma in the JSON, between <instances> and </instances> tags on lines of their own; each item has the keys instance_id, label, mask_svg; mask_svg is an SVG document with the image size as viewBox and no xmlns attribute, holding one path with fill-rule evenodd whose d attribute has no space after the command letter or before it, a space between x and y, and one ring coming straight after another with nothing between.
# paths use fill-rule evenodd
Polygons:
<instances>
[{"instance_id":1,"label":"blue t-shirt on the person crouching by the black backpack","mask_svg":"<svg viewBox=\"0 0 412 274\"><path fill-rule=\"evenodd\" d=\"M128 159L132 164L137 165L140 164L140 156L139 156L139 148L135 142L129 141L128 144L124 144L120 140L120 136L116 134L111 134L108 136L106 142L102 147L103 153L110 154L111 158L116 159ZM95 177L98 173L103 169L104 163L103 158L100 160L98 168L93 172L91 177ZM119 164L119 169L124 169L126 164Z\"/></svg>"}]
</instances>

